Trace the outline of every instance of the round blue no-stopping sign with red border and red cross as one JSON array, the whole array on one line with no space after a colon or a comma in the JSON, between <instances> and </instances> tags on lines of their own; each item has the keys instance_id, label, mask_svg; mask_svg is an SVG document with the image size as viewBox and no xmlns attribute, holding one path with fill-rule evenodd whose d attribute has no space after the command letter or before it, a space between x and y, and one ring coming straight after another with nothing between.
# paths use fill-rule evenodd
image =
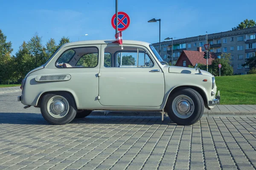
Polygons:
<instances>
[{"instance_id":1,"label":"round blue no-stopping sign with red border and red cross","mask_svg":"<svg viewBox=\"0 0 256 170\"><path fill-rule=\"evenodd\" d=\"M125 12L118 12L117 13L118 21L117 21L117 30L118 31L125 31L128 26L130 25L130 17ZM111 19L111 24L114 29L116 29L116 14L113 15Z\"/></svg>"}]
</instances>

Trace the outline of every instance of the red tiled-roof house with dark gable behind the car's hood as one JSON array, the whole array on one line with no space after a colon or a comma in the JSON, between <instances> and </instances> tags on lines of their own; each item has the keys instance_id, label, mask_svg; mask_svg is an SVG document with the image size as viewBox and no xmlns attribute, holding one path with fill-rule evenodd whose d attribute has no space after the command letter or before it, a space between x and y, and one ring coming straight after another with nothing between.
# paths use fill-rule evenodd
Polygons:
<instances>
[{"instance_id":1,"label":"red tiled-roof house with dark gable behind the car's hood","mask_svg":"<svg viewBox=\"0 0 256 170\"><path fill-rule=\"evenodd\" d=\"M212 64L212 61L217 58L214 52L209 52L210 58L208 59L208 65ZM201 47L197 48L197 51L183 50L178 58L175 66L188 67L189 65L195 66L196 63L206 65L206 59L204 58L204 51Z\"/></svg>"}]
</instances>

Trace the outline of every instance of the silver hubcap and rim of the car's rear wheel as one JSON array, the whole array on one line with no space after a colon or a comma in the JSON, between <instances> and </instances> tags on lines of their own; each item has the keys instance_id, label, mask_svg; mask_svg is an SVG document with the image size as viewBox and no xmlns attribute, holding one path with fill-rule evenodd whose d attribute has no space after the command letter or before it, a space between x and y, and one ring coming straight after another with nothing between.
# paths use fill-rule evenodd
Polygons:
<instances>
[{"instance_id":1,"label":"silver hubcap and rim of the car's rear wheel","mask_svg":"<svg viewBox=\"0 0 256 170\"><path fill-rule=\"evenodd\" d=\"M54 118L62 118L69 111L67 99L62 96L53 96L47 102L47 111Z\"/></svg>"}]
</instances>

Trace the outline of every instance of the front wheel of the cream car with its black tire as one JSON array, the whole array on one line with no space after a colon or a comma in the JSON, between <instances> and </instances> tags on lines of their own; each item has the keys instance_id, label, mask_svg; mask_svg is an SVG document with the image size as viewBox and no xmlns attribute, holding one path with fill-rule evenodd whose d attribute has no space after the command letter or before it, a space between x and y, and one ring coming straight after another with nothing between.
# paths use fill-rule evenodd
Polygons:
<instances>
[{"instance_id":1,"label":"front wheel of the cream car with its black tire","mask_svg":"<svg viewBox=\"0 0 256 170\"><path fill-rule=\"evenodd\" d=\"M167 114L169 118L173 122L175 122L177 125L193 125L196 122L198 122L198 120L201 119L201 117L204 114L204 100L197 91L191 88L179 88L177 91L175 91L171 95L172 96L169 96L169 99L167 101L166 109L167 109ZM183 96L184 96L184 99L182 98ZM179 114L181 111L179 110L179 108L176 107L177 106L176 104L178 103L177 101L185 101L186 99L187 99L186 101L191 101L189 98L192 100L194 104L191 104L190 107L188 108L187 110L188 115ZM174 104L174 106L172 106L172 104ZM186 117L186 116L189 116L189 117Z\"/></svg>"}]
</instances>

